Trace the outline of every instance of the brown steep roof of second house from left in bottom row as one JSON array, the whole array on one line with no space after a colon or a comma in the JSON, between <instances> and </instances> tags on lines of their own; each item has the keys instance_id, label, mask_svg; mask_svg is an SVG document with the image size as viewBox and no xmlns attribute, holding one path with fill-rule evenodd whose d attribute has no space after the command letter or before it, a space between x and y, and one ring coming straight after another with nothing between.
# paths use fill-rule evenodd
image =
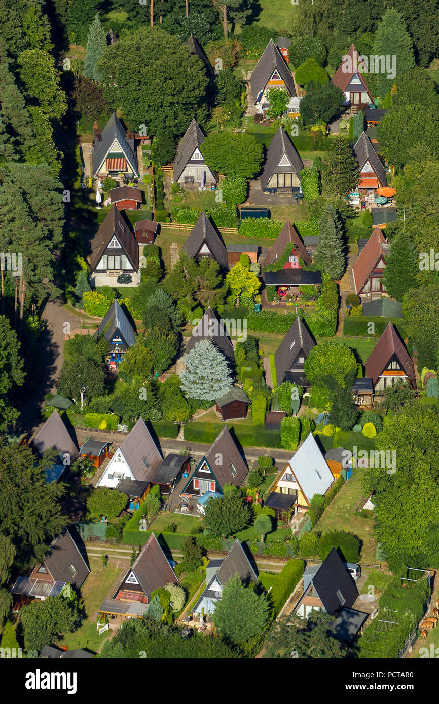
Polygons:
<instances>
[{"instance_id":1,"label":"brown steep roof of second house from left in bottom row","mask_svg":"<svg viewBox=\"0 0 439 704\"><path fill-rule=\"evenodd\" d=\"M170 582L172 584L177 584L178 582L175 572L169 564L165 553L163 553L154 533L149 536L139 555L132 563L132 567L125 575L123 582L125 582L131 572L134 572L149 600L152 592L159 589L159 587L165 586L165 584Z\"/></svg>"}]
</instances>

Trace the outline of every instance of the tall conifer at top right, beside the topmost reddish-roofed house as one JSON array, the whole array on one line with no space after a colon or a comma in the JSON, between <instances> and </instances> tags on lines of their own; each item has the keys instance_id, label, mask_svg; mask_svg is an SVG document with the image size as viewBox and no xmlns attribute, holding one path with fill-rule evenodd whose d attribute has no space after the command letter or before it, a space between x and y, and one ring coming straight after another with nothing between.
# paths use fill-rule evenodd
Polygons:
<instances>
[{"instance_id":1,"label":"tall conifer at top right, beside the topmost reddish-roofed house","mask_svg":"<svg viewBox=\"0 0 439 704\"><path fill-rule=\"evenodd\" d=\"M392 66L392 57L396 56L397 76L401 76L414 67L413 44L407 32L407 25L402 19L401 13L392 7L388 8L383 19L378 23L373 43L373 54L390 57L390 66ZM390 73L388 70L383 72L383 67L380 68L380 72L376 73L376 85L379 96L384 99L390 93L395 76L388 78L392 71Z\"/></svg>"}]
</instances>

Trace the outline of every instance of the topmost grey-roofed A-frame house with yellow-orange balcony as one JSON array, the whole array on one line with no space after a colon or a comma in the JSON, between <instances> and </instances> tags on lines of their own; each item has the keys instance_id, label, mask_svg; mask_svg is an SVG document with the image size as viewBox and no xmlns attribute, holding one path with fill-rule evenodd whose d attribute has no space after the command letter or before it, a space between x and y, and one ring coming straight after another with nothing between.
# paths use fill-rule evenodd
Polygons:
<instances>
[{"instance_id":1,"label":"topmost grey-roofed A-frame house with yellow-orange balcony","mask_svg":"<svg viewBox=\"0 0 439 704\"><path fill-rule=\"evenodd\" d=\"M268 90L279 88L286 90L290 96L288 114L297 115L299 112L299 99L297 99L294 78L273 39L270 39L264 54L254 67L250 76L250 87L254 105L259 111L267 110L270 105L266 96Z\"/></svg>"}]
</instances>

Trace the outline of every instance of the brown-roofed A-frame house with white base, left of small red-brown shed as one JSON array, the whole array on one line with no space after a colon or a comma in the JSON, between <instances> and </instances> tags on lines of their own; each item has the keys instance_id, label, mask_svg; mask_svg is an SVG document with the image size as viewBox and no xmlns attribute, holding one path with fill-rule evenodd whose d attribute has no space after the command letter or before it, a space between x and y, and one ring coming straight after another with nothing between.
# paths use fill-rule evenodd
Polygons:
<instances>
[{"instance_id":1,"label":"brown-roofed A-frame house with white base, left of small red-brown shed","mask_svg":"<svg viewBox=\"0 0 439 704\"><path fill-rule=\"evenodd\" d=\"M130 286L137 286L139 277L139 243L123 211L113 203L91 242L90 284L116 284L120 274L130 274ZM113 278L114 277L114 278ZM113 280L111 280L113 278Z\"/></svg>"}]
</instances>

